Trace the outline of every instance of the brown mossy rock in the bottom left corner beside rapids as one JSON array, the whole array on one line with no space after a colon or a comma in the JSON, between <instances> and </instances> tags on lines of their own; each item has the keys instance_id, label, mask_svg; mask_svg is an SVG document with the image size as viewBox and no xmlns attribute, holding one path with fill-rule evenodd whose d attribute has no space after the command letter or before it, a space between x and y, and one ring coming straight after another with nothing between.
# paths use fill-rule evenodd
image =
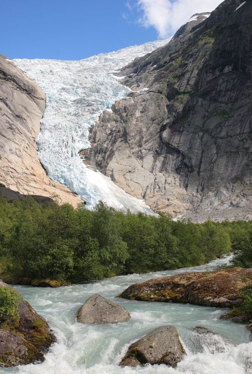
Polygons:
<instances>
[{"instance_id":1,"label":"brown mossy rock in the bottom left corner beside rapids","mask_svg":"<svg viewBox=\"0 0 252 374\"><path fill-rule=\"evenodd\" d=\"M12 289L0 280L0 288ZM55 341L45 319L23 298L17 301L15 318L7 315L0 327L0 364L15 366L43 360Z\"/></svg>"}]
</instances>

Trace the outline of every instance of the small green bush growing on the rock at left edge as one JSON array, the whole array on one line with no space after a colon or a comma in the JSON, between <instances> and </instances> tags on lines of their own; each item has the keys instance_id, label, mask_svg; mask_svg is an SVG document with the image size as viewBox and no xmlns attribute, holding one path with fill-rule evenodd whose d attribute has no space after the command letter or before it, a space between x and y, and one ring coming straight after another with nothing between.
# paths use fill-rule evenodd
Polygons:
<instances>
[{"instance_id":1,"label":"small green bush growing on the rock at left edge","mask_svg":"<svg viewBox=\"0 0 252 374\"><path fill-rule=\"evenodd\" d=\"M8 317L13 320L18 318L17 305L21 296L12 288L0 287L0 324Z\"/></svg>"}]
</instances>

